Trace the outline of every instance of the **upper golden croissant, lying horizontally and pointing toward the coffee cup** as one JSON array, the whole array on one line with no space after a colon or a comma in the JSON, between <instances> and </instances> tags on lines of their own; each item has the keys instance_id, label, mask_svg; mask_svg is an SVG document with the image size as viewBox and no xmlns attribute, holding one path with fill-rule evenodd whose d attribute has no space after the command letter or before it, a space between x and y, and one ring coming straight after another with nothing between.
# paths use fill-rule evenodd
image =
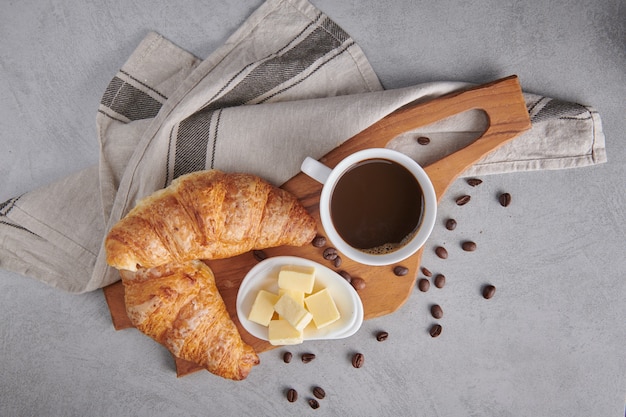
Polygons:
<instances>
[{"instance_id":1,"label":"upper golden croissant, lying horizontally and pointing toward the coffee cup","mask_svg":"<svg viewBox=\"0 0 626 417\"><path fill-rule=\"evenodd\" d=\"M287 191L254 175L210 170L183 175L141 200L111 229L105 248L109 265L136 271L301 246L315 232L315 220Z\"/></svg>"}]
</instances>

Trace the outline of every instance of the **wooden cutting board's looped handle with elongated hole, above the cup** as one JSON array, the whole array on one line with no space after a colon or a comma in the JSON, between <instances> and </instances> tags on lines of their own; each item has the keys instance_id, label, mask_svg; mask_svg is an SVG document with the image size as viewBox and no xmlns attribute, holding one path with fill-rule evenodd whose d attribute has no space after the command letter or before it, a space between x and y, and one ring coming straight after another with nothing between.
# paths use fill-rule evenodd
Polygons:
<instances>
[{"instance_id":1,"label":"wooden cutting board's looped handle with elongated hole, above the cup","mask_svg":"<svg viewBox=\"0 0 626 417\"><path fill-rule=\"evenodd\" d=\"M404 106L353 136L321 160L333 167L343 156L365 148L385 147L402 133L474 109L483 110L487 115L485 132L464 148L425 167L440 199L463 171L530 128L516 75Z\"/></svg>"}]
</instances>

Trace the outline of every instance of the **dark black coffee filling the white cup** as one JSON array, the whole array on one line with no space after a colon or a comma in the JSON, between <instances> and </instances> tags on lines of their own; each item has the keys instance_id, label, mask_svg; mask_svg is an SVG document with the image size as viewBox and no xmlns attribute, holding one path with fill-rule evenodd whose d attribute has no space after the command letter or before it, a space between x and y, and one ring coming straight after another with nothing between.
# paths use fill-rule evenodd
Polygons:
<instances>
[{"instance_id":1,"label":"dark black coffee filling the white cup","mask_svg":"<svg viewBox=\"0 0 626 417\"><path fill-rule=\"evenodd\" d=\"M408 169L387 159L367 159L337 181L330 214L335 229L350 246L385 254L404 246L416 233L423 197Z\"/></svg>"}]
</instances>

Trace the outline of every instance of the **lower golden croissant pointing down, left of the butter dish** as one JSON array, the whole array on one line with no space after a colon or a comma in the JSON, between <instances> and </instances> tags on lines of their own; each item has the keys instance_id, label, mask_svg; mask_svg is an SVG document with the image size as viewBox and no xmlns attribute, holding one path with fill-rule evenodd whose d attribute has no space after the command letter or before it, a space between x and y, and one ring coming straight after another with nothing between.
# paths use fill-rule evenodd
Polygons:
<instances>
[{"instance_id":1,"label":"lower golden croissant pointing down, left of the butter dish","mask_svg":"<svg viewBox=\"0 0 626 417\"><path fill-rule=\"evenodd\" d=\"M128 317L172 354L233 380L246 378L259 363L254 349L241 340L205 263L121 275Z\"/></svg>"}]
</instances>

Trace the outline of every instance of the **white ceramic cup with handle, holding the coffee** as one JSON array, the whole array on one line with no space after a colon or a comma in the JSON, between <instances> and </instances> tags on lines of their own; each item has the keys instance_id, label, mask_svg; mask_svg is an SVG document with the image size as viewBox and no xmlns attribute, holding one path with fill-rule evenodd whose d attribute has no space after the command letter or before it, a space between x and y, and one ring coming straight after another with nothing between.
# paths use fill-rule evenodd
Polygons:
<instances>
[{"instance_id":1,"label":"white ceramic cup with handle, holding the coffee","mask_svg":"<svg viewBox=\"0 0 626 417\"><path fill-rule=\"evenodd\" d=\"M422 192L421 214L418 216L417 227L408 233L402 242L388 242L393 243L393 247L387 247L382 251L359 249L350 245L342 238L333 222L331 210L333 194L337 183L346 173L361 164L381 160L383 162L391 161L390 164L395 163L404 167L417 181ZM319 211L326 237L339 252L356 262L373 266L391 265L401 262L417 252L424 245L433 230L437 216L437 197L433 184L424 169L401 152L386 148L365 149L347 156L333 169L313 158L307 157L302 163L301 170L309 177L323 184Z\"/></svg>"}]
</instances>

